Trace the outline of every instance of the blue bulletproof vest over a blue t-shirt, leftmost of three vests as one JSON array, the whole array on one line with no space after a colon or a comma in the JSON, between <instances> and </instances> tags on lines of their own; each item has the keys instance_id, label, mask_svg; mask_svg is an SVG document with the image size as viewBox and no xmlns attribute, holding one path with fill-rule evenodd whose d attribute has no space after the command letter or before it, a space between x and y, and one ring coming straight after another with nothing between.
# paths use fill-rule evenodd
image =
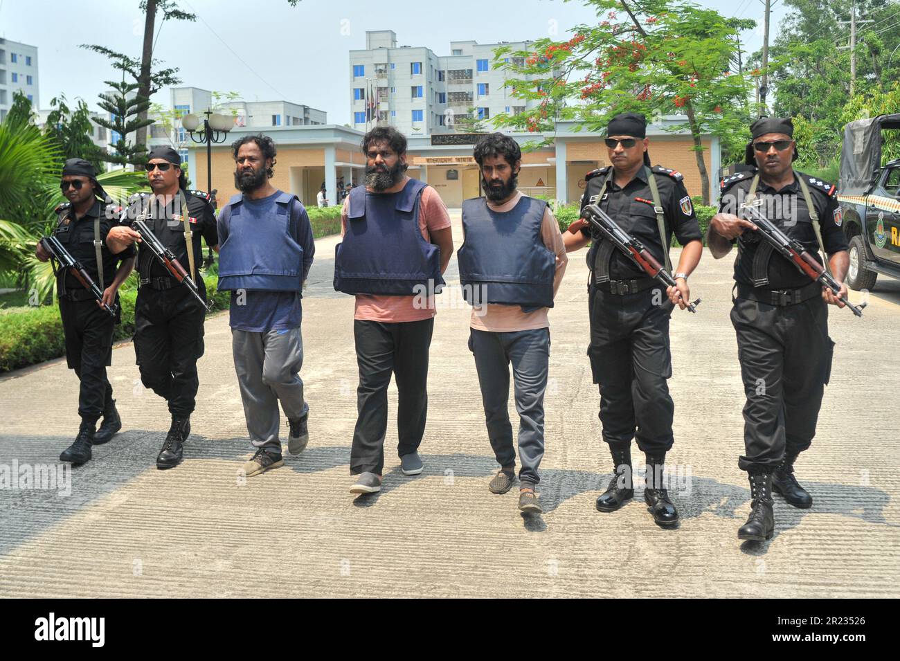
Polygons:
<instances>
[{"instance_id":1,"label":"blue bulletproof vest over a blue t-shirt, leftmost of three vests","mask_svg":"<svg viewBox=\"0 0 900 661\"><path fill-rule=\"evenodd\" d=\"M228 228L219 248L219 289L302 290L303 248L291 233L291 212L302 210L297 196L283 192L275 198L277 211L263 222L247 219L243 202L235 195L219 214Z\"/></svg>"}]
</instances>

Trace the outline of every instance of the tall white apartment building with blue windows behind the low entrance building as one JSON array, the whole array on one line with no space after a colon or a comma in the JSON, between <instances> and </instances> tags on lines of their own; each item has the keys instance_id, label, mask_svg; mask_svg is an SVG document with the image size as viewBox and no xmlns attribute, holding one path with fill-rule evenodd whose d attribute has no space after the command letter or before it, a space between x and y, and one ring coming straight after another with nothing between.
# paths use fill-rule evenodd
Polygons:
<instances>
[{"instance_id":1,"label":"tall white apartment building with blue windows behind the low entrance building","mask_svg":"<svg viewBox=\"0 0 900 661\"><path fill-rule=\"evenodd\" d=\"M452 132L461 117L490 120L532 108L537 102L513 98L503 69L492 67L501 45L515 51L530 43L451 41L450 55L438 56L424 47L398 48L392 30L366 31L365 50L350 51L351 126L365 130L368 94L376 103L369 127L390 124L407 136Z\"/></svg>"}]
</instances>

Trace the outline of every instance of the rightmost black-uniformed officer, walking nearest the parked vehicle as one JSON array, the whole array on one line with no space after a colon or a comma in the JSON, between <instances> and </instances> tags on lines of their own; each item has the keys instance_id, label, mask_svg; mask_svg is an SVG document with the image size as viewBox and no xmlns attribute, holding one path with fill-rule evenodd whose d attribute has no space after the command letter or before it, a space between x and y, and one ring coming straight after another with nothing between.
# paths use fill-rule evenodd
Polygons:
<instances>
[{"instance_id":1,"label":"rightmost black-uniformed officer, walking nearest the parked vehicle","mask_svg":"<svg viewBox=\"0 0 900 661\"><path fill-rule=\"evenodd\" d=\"M791 505L810 507L812 497L794 478L794 461L809 447L831 373L833 346L825 303L844 307L754 236L756 226L738 218L740 205L762 198L762 212L822 263L820 243L833 277L843 282L849 258L841 212L830 183L794 170L794 125L761 118L751 127L747 164L722 181L719 213L708 245L717 258L738 246L734 262L736 298L731 312L747 403L743 407L746 454L738 466L750 477L752 511L738 531L742 540L766 540L774 531L771 491ZM821 241L820 238L821 237ZM847 287L842 284L841 296Z\"/></svg>"}]
</instances>

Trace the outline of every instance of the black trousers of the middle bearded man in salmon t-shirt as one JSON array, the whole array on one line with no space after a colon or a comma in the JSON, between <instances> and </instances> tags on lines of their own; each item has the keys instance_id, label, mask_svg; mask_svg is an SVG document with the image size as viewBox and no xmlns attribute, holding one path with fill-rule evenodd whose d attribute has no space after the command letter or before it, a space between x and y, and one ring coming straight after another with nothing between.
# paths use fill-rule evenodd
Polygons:
<instances>
[{"instance_id":1,"label":"black trousers of the middle bearded man in salmon t-shirt","mask_svg":"<svg viewBox=\"0 0 900 661\"><path fill-rule=\"evenodd\" d=\"M398 324L354 321L359 387L351 475L382 474L392 374L397 380L398 456L419 449L428 414L428 348L434 327L434 317Z\"/></svg>"}]
</instances>

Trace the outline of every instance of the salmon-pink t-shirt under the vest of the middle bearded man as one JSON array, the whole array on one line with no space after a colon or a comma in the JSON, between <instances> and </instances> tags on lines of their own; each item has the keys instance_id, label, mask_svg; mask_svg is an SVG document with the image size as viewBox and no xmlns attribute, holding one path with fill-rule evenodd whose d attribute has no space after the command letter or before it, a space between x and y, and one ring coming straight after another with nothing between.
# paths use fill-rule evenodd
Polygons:
<instances>
[{"instance_id":1,"label":"salmon-pink t-shirt under the vest of the middle bearded man","mask_svg":"<svg viewBox=\"0 0 900 661\"><path fill-rule=\"evenodd\" d=\"M393 188L389 188L385 193L399 192L403 190L403 186L410 181L410 177L404 177L403 181ZM371 192L371 191L370 191ZM377 193L376 193L377 194ZM340 236L343 237L347 232L347 208L350 205L350 198L344 201L344 208L341 210L341 229ZM431 241L431 232L438 229L446 229L450 227L450 214L447 213L446 205L441 200L440 195L431 186L426 186L422 191L422 198L419 200L419 230L425 240ZM374 296L369 294L356 295L356 309L353 318L362 321L380 321L384 324L397 324L405 321L422 321L429 319L437 314L435 309L435 297L428 297L426 306L416 307L413 305L414 296Z\"/></svg>"}]
</instances>

